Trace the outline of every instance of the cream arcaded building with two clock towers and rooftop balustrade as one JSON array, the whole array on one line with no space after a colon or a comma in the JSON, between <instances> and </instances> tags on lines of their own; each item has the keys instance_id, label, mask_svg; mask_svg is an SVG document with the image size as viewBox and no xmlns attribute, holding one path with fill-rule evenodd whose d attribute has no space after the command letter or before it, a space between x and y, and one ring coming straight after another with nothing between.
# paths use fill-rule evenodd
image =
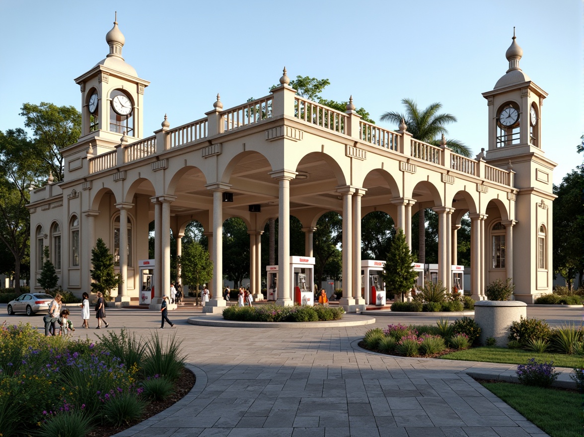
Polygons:
<instances>
[{"instance_id":1,"label":"cream arcaded building with two clock towers and rooftop balustrade","mask_svg":"<svg viewBox=\"0 0 584 437\"><path fill-rule=\"evenodd\" d=\"M296 95L286 69L269 95L224 109L220 96L199 120L144 137L144 92L122 57L117 22L106 35L109 53L75 82L81 89L82 136L62 150L65 178L31 192L32 285L43 247L61 285L90 290L91 249L102 238L116 257L123 282L113 293L127 304L140 290L138 261L148 258L148 226L155 222L155 296L159 307L171 281L170 234L178 241L197 220L214 263L208 312L221 297L222 226L240 217L250 237L252 293L261 292L260 235L279 219L277 303L294 301L287 269L291 255L312 256L319 217L343 219L343 297L347 310L364 308L361 296L361 217L390 214L411 244L411 219L420 208L439 216L439 279L451 286L457 264L457 229L471 219L471 294L512 278L517 300L532 303L552 287L552 171L541 121L547 93L521 70L515 36L509 68L483 93L488 105L488 149L476 159L412 138L405 123L392 131L364 122L352 99L339 112ZM161 119L162 114L161 110ZM225 202L224 200L227 200ZM290 216L303 224L305 254L291 254ZM127 250L120 250L126 247Z\"/></svg>"}]
</instances>

